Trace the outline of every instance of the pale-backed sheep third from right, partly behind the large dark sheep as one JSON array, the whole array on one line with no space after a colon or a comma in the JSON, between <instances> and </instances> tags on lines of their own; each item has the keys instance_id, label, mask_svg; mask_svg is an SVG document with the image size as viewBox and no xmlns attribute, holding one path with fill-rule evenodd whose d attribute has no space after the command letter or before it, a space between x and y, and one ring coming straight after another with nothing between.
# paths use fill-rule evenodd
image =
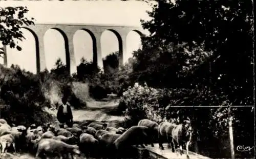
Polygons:
<instances>
[{"instance_id":1,"label":"pale-backed sheep third from right, partly behind the large dark sheep","mask_svg":"<svg viewBox=\"0 0 256 159\"><path fill-rule=\"evenodd\" d=\"M148 129L150 131L152 131L151 132L151 134L152 134L151 137L156 138L156 136L158 136L158 127L159 127L159 125L156 122L153 122L153 121L148 120L148 119L143 119L143 120L139 121L138 126L148 127ZM151 146L154 147L154 144L151 143Z\"/></svg>"}]
</instances>

